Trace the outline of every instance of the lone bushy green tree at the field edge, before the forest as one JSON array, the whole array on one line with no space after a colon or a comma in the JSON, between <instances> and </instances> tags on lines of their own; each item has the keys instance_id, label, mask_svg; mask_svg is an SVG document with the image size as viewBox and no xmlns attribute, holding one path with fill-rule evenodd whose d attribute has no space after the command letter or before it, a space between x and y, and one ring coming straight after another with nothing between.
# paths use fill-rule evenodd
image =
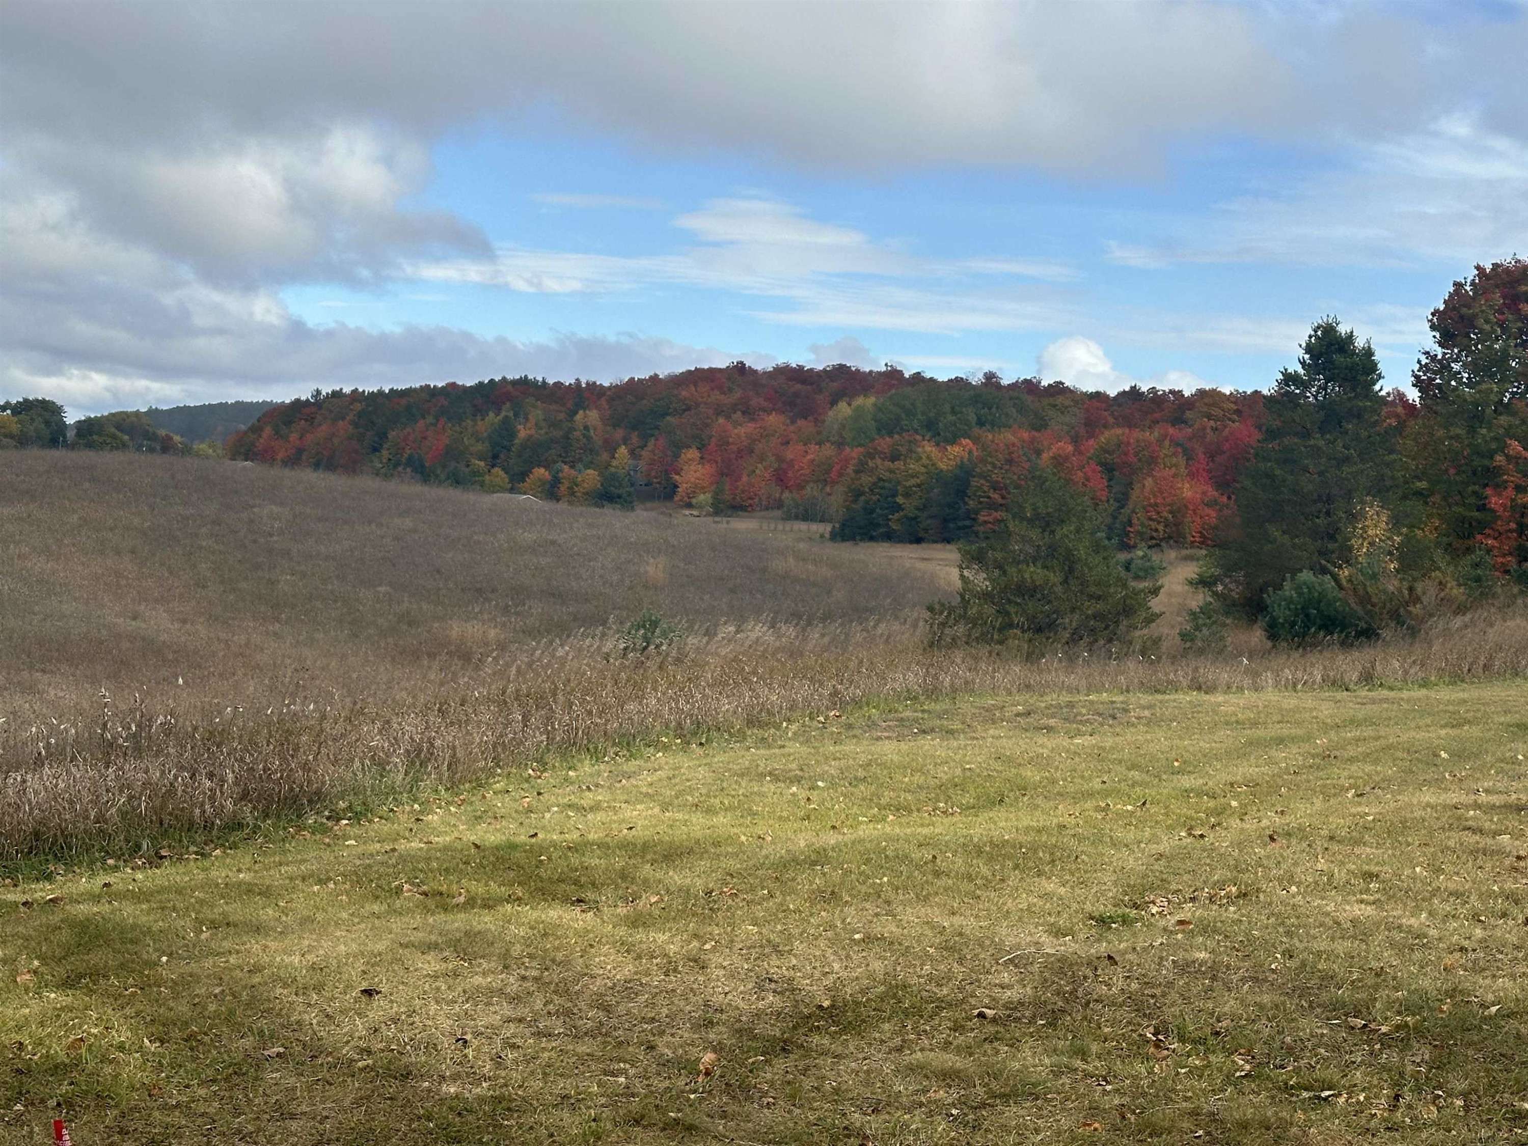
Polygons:
<instances>
[{"instance_id":1,"label":"lone bushy green tree at the field edge, before the forest","mask_svg":"<svg viewBox=\"0 0 1528 1146\"><path fill-rule=\"evenodd\" d=\"M960 597L929 605L934 643L1120 643L1160 616L1161 585L1132 585L1094 504L1044 468L999 527L960 553Z\"/></svg>"}]
</instances>

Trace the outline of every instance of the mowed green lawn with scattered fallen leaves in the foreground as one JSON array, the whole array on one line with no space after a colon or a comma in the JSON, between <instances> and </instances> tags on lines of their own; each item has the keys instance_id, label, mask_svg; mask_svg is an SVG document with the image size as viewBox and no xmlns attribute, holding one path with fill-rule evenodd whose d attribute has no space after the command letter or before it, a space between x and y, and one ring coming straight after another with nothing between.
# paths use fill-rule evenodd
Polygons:
<instances>
[{"instance_id":1,"label":"mowed green lawn with scattered fallen leaves in the foreground","mask_svg":"<svg viewBox=\"0 0 1528 1146\"><path fill-rule=\"evenodd\" d=\"M976 700L3 888L0 1141L1528 1141L1525 752Z\"/></svg>"}]
</instances>

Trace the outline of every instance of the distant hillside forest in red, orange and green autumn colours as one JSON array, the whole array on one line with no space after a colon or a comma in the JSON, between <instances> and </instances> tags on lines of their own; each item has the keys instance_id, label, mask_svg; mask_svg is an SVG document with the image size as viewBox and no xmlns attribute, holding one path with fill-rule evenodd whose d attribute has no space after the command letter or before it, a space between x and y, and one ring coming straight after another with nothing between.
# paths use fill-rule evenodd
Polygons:
<instances>
[{"instance_id":1,"label":"distant hillside forest in red, orange and green autumn colours","mask_svg":"<svg viewBox=\"0 0 1528 1146\"><path fill-rule=\"evenodd\" d=\"M952 541L1031 454L1111 503L1132 544L1203 544L1258 440L1262 397L1089 394L996 374L730 367L617 385L492 379L315 393L229 442L240 460L520 490L581 504L782 510L845 539Z\"/></svg>"}]
</instances>

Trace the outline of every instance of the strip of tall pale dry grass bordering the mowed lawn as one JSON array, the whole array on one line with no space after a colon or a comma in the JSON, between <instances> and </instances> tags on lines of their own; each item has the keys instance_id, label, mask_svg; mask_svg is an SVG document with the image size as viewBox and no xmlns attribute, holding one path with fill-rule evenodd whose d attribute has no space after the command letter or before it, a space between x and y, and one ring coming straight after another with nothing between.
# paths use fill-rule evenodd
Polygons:
<instances>
[{"instance_id":1,"label":"strip of tall pale dry grass bordering the mowed lawn","mask_svg":"<svg viewBox=\"0 0 1528 1146\"><path fill-rule=\"evenodd\" d=\"M0 738L0 860L385 801L549 753L955 694L1357 689L1528 675L1528 610L1475 614L1415 639L1256 659L1019 662L931 652L905 623L740 625L662 657L613 656L610 634L544 642L417 694L293 692L267 707L125 706ZM1528 700L1528 692L1525 692Z\"/></svg>"}]
</instances>

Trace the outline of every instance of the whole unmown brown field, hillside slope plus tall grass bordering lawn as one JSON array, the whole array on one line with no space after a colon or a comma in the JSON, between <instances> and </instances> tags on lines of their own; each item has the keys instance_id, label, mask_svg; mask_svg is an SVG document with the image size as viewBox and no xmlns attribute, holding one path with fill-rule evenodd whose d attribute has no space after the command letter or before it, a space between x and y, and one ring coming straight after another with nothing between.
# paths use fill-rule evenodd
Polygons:
<instances>
[{"instance_id":1,"label":"whole unmown brown field, hillside slope plus tall grass bordering lawn","mask_svg":"<svg viewBox=\"0 0 1528 1146\"><path fill-rule=\"evenodd\" d=\"M1027 663L926 648L938 550L186 458L0 466L0 871L862 704L1528 672L1520 607L1314 656L1169 640ZM1169 611L1190 568L1172 556ZM616 630L645 607L688 636L623 657Z\"/></svg>"}]
</instances>

